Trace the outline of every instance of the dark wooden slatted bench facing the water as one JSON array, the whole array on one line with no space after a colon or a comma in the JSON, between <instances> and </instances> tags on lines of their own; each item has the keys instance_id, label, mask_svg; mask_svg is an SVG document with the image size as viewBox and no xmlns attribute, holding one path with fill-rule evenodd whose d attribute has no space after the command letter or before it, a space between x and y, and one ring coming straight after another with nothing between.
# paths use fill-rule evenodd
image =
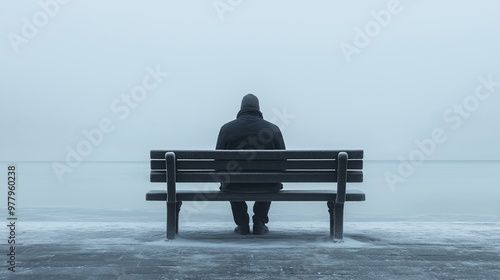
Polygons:
<instances>
[{"instance_id":1,"label":"dark wooden slatted bench facing the water","mask_svg":"<svg viewBox=\"0 0 500 280\"><path fill-rule=\"evenodd\" d=\"M152 190L148 201L167 203L167 240L179 230L182 201L325 201L330 212L330 237L343 239L345 201L364 201L365 194L346 190L363 181L363 151L213 150L151 151L151 182L167 183ZM325 183L330 190L283 190L277 193L228 193L220 190L177 190L177 183ZM229 210L228 210L229 211Z\"/></svg>"}]
</instances>

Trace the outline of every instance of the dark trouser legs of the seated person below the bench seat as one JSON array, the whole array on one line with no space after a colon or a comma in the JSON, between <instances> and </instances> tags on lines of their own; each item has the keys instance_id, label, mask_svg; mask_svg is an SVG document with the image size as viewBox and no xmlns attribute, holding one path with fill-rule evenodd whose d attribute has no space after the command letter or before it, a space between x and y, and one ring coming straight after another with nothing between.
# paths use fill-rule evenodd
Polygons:
<instances>
[{"instance_id":1,"label":"dark trouser legs of the seated person below the bench seat","mask_svg":"<svg viewBox=\"0 0 500 280\"><path fill-rule=\"evenodd\" d=\"M267 224L269 222L269 208L271 201L256 201L253 205L253 223L262 222ZM239 226L248 225L250 218L248 217L248 206L245 201L231 201L231 210L233 211L234 222Z\"/></svg>"}]
</instances>

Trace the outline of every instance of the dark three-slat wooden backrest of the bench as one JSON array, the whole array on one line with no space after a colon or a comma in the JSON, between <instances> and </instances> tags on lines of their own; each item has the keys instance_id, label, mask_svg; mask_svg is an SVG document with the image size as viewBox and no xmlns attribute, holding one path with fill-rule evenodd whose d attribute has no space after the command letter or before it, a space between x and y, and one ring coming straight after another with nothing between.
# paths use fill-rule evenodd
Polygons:
<instances>
[{"instance_id":1,"label":"dark three-slat wooden backrest of the bench","mask_svg":"<svg viewBox=\"0 0 500 280\"><path fill-rule=\"evenodd\" d=\"M175 182L337 182L340 161L346 162L346 176L340 178L363 181L362 150L152 150L151 182L167 182L167 153Z\"/></svg>"}]
</instances>

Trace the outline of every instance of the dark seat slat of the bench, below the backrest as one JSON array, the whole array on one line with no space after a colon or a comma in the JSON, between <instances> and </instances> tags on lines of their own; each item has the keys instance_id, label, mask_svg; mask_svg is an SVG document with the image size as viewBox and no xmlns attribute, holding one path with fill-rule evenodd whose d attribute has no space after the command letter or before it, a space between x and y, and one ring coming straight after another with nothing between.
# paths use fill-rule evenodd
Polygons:
<instances>
[{"instance_id":1,"label":"dark seat slat of the bench, below the backrest","mask_svg":"<svg viewBox=\"0 0 500 280\"><path fill-rule=\"evenodd\" d=\"M337 196L334 190L282 190L278 193L245 193L246 201L335 201ZM167 192L164 190L152 190L146 194L148 201L166 201ZM239 201L241 194L212 191L182 190L177 191L178 201ZM365 194L358 190L348 190L347 201L364 201Z\"/></svg>"}]
</instances>

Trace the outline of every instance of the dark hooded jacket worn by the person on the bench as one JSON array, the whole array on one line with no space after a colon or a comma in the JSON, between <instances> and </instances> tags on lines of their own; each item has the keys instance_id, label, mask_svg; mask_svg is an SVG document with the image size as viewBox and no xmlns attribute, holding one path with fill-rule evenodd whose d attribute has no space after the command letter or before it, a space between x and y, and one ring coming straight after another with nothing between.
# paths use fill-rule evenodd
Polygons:
<instances>
[{"instance_id":1,"label":"dark hooded jacket worn by the person on the bench","mask_svg":"<svg viewBox=\"0 0 500 280\"><path fill-rule=\"evenodd\" d=\"M278 126L264 120L256 96L243 97L236 119L222 126L217 150L284 150L285 142ZM222 183L222 191L276 192L281 183Z\"/></svg>"}]
</instances>

